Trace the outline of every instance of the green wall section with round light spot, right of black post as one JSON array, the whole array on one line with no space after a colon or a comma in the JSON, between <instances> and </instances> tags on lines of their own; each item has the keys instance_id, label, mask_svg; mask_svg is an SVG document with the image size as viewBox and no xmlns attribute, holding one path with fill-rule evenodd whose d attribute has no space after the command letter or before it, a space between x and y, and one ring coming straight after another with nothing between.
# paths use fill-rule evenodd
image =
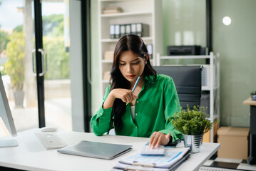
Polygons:
<instances>
[{"instance_id":1,"label":"green wall section with round light spot, right of black post","mask_svg":"<svg viewBox=\"0 0 256 171\"><path fill-rule=\"evenodd\" d=\"M213 49L220 52L221 125L249 126L250 112L242 101L256 90L256 1L213 1ZM222 18L230 16L229 26Z\"/></svg>"}]
</instances>

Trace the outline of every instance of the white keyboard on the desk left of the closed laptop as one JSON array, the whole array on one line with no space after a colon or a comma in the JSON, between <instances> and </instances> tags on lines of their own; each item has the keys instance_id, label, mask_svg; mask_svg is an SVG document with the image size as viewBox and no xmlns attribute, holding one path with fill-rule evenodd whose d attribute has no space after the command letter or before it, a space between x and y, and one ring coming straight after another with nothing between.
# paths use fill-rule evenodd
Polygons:
<instances>
[{"instance_id":1,"label":"white keyboard on the desk left of the closed laptop","mask_svg":"<svg viewBox=\"0 0 256 171\"><path fill-rule=\"evenodd\" d=\"M35 133L35 135L47 150L66 147L66 143L55 133Z\"/></svg>"}]
</instances>

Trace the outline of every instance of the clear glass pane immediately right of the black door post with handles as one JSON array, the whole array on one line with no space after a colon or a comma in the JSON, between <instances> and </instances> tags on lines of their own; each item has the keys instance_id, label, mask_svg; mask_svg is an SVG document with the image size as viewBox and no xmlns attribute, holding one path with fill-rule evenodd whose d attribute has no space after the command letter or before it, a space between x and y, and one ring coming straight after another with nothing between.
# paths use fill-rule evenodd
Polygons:
<instances>
[{"instance_id":1,"label":"clear glass pane immediately right of the black door post with handles","mask_svg":"<svg viewBox=\"0 0 256 171\"><path fill-rule=\"evenodd\" d=\"M42 1L43 50L47 56L44 76L46 126L72 130L69 68L69 1Z\"/></svg>"}]
</instances>

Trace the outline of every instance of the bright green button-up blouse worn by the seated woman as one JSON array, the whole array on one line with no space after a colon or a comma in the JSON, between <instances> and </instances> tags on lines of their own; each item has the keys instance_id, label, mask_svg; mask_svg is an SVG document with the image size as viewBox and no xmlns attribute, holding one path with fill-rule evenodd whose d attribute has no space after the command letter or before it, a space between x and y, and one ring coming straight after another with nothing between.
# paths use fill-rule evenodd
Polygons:
<instances>
[{"instance_id":1,"label":"bright green button-up blouse worn by the seated woman","mask_svg":"<svg viewBox=\"0 0 256 171\"><path fill-rule=\"evenodd\" d=\"M110 85L106 88L103 103L108 97ZM91 128L96 135L103 135L113 128L112 108L97 111L91 118ZM173 114L180 111L180 102L173 78L158 74L144 78L143 88L135 100L135 120L130 113L130 103L122 117L122 129L116 135L149 138L155 131L172 136L173 140L183 138L182 134L170 123ZM98 120L98 121L97 121Z\"/></svg>"}]
</instances>

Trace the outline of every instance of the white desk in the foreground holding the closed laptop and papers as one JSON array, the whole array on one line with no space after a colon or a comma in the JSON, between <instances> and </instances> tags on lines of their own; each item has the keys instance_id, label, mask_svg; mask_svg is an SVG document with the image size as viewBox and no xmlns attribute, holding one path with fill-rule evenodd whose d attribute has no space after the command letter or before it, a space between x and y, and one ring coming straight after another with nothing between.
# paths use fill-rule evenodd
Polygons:
<instances>
[{"instance_id":1,"label":"white desk in the foreground holding the closed laptop and papers","mask_svg":"<svg viewBox=\"0 0 256 171\"><path fill-rule=\"evenodd\" d=\"M133 138L116 135L103 135L97 137L93 133L78 133L58 131L57 135L68 145L80 142L81 140L90 140L96 142L109 142L116 144L133 145L133 150L127 152L113 160L102 160L90 157L80 157L75 155L65 155L58 153L57 150L46 150L34 133L39 129L26 130L18 133L16 140L18 147L0 148L0 165L12 167L19 170L111 170L122 157L128 157L138 152L142 145L149 141L149 138ZM181 170L198 170L203 163L208 160L217 150L220 144L203 143L201 151L192 154L183 165L178 167Z\"/></svg>"}]
</instances>

